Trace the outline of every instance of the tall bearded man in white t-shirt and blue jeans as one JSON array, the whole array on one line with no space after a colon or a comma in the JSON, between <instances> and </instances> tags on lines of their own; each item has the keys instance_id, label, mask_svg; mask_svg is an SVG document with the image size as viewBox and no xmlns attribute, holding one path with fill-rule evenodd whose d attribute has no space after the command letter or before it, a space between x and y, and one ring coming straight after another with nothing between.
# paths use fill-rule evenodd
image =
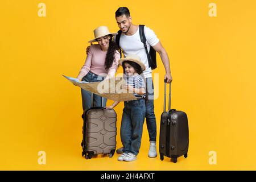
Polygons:
<instances>
[{"instance_id":1,"label":"tall bearded man in white t-shirt and blue jeans","mask_svg":"<svg viewBox=\"0 0 256 182\"><path fill-rule=\"evenodd\" d=\"M115 12L115 19L117 20L118 27L122 31L121 37L119 39L119 46L123 50L123 55L134 54L141 57L142 62L146 65L146 70L143 72L143 76L146 79L146 122L147 130L150 137L150 148L148 151L148 157L155 158L157 156L156 152L156 119L154 113L154 85L152 82L152 70L148 66L147 54L144 48L141 38L139 36L139 26L131 23L130 11L127 7L119 7ZM154 31L148 27L144 27L144 34L147 39L147 49L150 50L152 46L156 52L159 53L161 60L166 69L166 75L164 79L167 82L172 81L171 69L169 64L169 58L167 52L163 48L159 39L156 37ZM117 153L121 154L123 148L119 148Z\"/></svg>"}]
</instances>

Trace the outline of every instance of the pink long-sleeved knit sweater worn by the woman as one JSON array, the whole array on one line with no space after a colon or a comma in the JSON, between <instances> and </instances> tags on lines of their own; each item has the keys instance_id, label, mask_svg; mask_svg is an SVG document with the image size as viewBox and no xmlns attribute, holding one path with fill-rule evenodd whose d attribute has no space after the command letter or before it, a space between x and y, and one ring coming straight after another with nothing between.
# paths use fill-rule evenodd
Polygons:
<instances>
[{"instance_id":1,"label":"pink long-sleeved knit sweater worn by the woman","mask_svg":"<svg viewBox=\"0 0 256 182\"><path fill-rule=\"evenodd\" d=\"M109 68L108 72L105 69L105 59L107 51L101 51L99 44L93 44L90 46L89 52L85 60L84 66L80 70L80 77L87 75L89 71L100 75L105 73L108 77L114 77L118 67L118 60L120 59L120 53L115 51L114 61L112 67Z\"/></svg>"}]
</instances>

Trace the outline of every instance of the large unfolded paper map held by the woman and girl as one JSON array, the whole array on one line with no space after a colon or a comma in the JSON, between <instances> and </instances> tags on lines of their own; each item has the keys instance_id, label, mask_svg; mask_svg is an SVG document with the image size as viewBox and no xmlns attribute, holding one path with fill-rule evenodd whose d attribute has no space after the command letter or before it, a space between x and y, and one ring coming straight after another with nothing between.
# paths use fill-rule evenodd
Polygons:
<instances>
[{"instance_id":1,"label":"large unfolded paper map held by the woman and girl","mask_svg":"<svg viewBox=\"0 0 256 182\"><path fill-rule=\"evenodd\" d=\"M126 82L122 77L113 77L98 82L79 81L77 78L68 76L64 77L71 81L74 85L97 94L98 96L108 98L109 100L118 102L137 100L133 93L127 93L127 90L123 89L123 85L125 85Z\"/></svg>"}]
</instances>

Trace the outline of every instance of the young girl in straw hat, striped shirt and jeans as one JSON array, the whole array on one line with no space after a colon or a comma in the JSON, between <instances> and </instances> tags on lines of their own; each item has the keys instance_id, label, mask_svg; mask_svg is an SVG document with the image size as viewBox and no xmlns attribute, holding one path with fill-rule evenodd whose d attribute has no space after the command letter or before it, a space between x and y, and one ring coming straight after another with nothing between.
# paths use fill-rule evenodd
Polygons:
<instances>
[{"instance_id":1,"label":"young girl in straw hat, striped shirt and jeans","mask_svg":"<svg viewBox=\"0 0 256 182\"><path fill-rule=\"evenodd\" d=\"M137 55L127 55L125 59L119 60L123 67L125 88L133 93L137 100L125 101L121 123L121 141L123 154L118 157L119 161L131 162L137 159L141 147L142 129L146 113L145 100L146 86L141 73L145 66ZM106 109L113 109L119 102L114 102Z\"/></svg>"}]
</instances>

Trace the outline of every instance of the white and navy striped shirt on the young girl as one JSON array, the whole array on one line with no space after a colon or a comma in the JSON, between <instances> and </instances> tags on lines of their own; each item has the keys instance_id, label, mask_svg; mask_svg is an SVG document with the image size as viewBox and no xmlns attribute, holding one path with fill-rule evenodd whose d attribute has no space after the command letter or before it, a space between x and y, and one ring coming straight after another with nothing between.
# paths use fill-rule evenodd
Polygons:
<instances>
[{"instance_id":1,"label":"white and navy striped shirt on the young girl","mask_svg":"<svg viewBox=\"0 0 256 182\"><path fill-rule=\"evenodd\" d=\"M144 82L143 77L141 75L135 74L135 75L130 76L130 77L125 75L124 79L126 80L127 85L133 86L133 88L137 88L137 89L144 88L144 90L146 92L145 82ZM133 94L137 98L137 100L146 97L146 93L144 93L144 94L133 93Z\"/></svg>"}]
</instances>

